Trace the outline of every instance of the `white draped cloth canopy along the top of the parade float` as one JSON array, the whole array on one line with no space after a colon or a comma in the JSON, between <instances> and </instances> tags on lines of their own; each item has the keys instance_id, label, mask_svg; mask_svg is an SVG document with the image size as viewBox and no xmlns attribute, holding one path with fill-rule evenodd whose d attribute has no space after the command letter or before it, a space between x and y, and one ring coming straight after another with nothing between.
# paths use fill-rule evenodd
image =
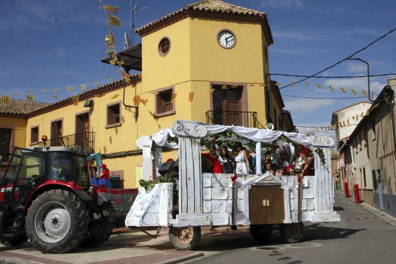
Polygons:
<instances>
[{"instance_id":1,"label":"white draped cloth canopy along the top of the parade float","mask_svg":"<svg viewBox=\"0 0 396 264\"><path fill-rule=\"evenodd\" d=\"M296 132L282 132L272 131L265 129L256 128L245 128L239 126L222 126L222 125L203 125L207 129L207 136L211 136L220 132L230 130L242 137L256 141L256 142L272 142L278 139L281 135L286 136L295 143L300 143L305 147L310 147L308 136L302 133ZM159 132L151 136L151 140L158 146L165 146L171 148L177 148L176 143L168 143L168 136L175 137L176 135L172 132L172 129L161 129Z\"/></svg>"}]
</instances>

